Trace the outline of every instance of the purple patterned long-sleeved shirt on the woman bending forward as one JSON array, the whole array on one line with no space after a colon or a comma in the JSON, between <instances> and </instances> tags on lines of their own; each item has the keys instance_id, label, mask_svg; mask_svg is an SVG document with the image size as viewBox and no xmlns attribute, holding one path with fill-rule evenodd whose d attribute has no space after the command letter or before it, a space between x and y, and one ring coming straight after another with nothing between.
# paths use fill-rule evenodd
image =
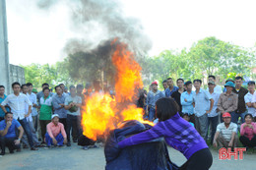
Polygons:
<instances>
[{"instance_id":1,"label":"purple patterned long-sleeved shirt on the woman bending forward","mask_svg":"<svg viewBox=\"0 0 256 170\"><path fill-rule=\"evenodd\" d=\"M196 129L189 122L181 118L178 113L170 119L158 123L146 132L118 142L118 145L120 148L123 148L142 142L150 142L160 137L164 137L168 145L179 150L187 159L198 150L208 148L208 145Z\"/></svg>"}]
</instances>

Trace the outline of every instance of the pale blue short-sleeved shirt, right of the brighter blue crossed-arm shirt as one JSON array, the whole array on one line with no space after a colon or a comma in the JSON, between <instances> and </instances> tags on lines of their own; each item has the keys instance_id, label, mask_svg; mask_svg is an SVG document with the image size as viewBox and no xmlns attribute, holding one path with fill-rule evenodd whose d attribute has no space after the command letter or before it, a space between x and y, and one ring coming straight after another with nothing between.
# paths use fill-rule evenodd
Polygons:
<instances>
[{"instance_id":1,"label":"pale blue short-sleeved shirt, right of the brighter blue crossed-arm shirt","mask_svg":"<svg viewBox=\"0 0 256 170\"><path fill-rule=\"evenodd\" d=\"M209 110L209 100L212 99L210 92L200 88L198 94L193 93L193 100L195 103L194 113L197 117L203 116Z\"/></svg>"}]
</instances>

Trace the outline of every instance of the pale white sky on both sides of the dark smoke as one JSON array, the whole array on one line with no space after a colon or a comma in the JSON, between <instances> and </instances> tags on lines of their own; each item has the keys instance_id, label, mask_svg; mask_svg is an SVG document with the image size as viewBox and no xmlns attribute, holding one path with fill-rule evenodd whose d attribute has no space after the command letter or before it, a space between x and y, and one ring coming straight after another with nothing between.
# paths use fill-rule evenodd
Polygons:
<instances>
[{"instance_id":1,"label":"pale white sky on both sides of the dark smoke","mask_svg":"<svg viewBox=\"0 0 256 170\"><path fill-rule=\"evenodd\" d=\"M180 50L207 36L243 47L256 44L255 0L119 0L124 14L141 21L153 42L150 56ZM34 0L6 0L9 60L15 65L54 64L66 56L71 27L67 7L45 12Z\"/></svg>"}]
</instances>

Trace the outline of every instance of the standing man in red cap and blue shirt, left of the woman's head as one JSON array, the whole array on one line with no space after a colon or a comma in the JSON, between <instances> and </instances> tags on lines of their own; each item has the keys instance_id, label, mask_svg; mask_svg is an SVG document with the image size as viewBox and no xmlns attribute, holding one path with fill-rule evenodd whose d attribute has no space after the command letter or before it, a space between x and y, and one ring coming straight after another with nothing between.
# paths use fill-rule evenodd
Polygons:
<instances>
[{"instance_id":1,"label":"standing man in red cap and blue shirt, left of the woman's head","mask_svg":"<svg viewBox=\"0 0 256 170\"><path fill-rule=\"evenodd\" d=\"M153 82L152 90L149 91L147 96L147 108L146 108L146 115L149 115L149 120L153 121L155 114L156 114L156 102L158 99L163 97L162 92L158 89L158 83ZM149 113L150 109L150 113Z\"/></svg>"}]
</instances>

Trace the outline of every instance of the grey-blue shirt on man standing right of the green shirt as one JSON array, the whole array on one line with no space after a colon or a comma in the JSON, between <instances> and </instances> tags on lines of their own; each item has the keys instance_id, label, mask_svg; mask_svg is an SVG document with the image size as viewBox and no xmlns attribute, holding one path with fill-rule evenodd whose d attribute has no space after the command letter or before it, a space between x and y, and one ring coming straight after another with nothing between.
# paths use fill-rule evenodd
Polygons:
<instances>
[{"instance_id":1,"label":"grey-blue shirt on man standing right of the green shirt","mask_svg":"<svg viewBox=\"0 0 256 170\"><path fill-rule=\"evenodd\" d=\"M61 107L59 104L65 104L66 94L62 93L59 96L57 93L52 96L52 105L54 109L54 114L58 114L60 118L67 118L67 110Z\"/></svg>"}]
</instances>

